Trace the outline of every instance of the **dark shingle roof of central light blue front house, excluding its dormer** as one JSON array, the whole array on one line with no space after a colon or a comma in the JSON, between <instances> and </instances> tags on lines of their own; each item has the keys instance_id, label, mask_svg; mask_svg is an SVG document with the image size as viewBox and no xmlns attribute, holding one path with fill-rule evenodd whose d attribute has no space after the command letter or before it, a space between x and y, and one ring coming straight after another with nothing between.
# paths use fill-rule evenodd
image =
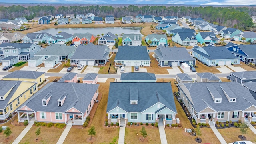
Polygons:
<instances>
[{"instance_id":1,"label":"dark shingle roof of central light blue front house, excluding its dormer","mask_svg":"<svg viewBox=\"0 0 256 144\"><path fill-rule=\"evenodd\" d=\"M130 104L130 89L138 89L138 104ZM126 112L142 112L161 102L167 108L177 113L170 83L160 82L110 82L107 112L122 108Z\"/></svg>"}]
</instances>

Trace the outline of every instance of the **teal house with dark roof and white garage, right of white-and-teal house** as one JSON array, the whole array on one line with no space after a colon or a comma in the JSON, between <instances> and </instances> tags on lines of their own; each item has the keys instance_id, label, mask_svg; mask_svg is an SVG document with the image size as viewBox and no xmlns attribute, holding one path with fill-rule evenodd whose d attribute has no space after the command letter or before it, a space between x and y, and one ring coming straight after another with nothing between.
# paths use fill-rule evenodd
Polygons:
<instances>
[{"instance_id":1,"label":"teal house with dark roof and white garage, right of white-and-teal house","mask_svg":"<svg viewBox=\"0 0 256 144\"><path fill-rule=\"evenodd\" d=\"M219 39L216 37L214 32L198 32L196 34L197 42L201 44L217 44Z\"/></svg>"}]
</instances>

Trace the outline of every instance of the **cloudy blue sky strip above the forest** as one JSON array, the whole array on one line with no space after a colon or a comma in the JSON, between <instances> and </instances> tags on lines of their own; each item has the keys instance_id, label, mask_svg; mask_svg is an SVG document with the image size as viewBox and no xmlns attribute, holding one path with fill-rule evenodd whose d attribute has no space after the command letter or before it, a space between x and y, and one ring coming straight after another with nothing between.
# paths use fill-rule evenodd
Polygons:
<instances>
[{"instance_id":1,"label":"cloudy blue sky strip above the forest","mask_svg":"<svg viewBox=\"0 0 256 144\"><path fill-rule=\"evenodd\" d=\"M256 0L0 0L9 3L254 5Z\"/></svg>"}]
</instances>

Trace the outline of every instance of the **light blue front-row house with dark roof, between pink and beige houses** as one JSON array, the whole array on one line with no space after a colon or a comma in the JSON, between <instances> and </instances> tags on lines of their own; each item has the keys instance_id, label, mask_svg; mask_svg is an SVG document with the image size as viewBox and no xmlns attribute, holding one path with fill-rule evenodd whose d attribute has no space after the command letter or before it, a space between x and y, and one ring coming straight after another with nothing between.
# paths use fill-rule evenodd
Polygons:
<instances>
[{"instance_id":1,"label":"light blue front-row house with dark roof, between pink and beige houses","mask_svg":"<svg viewBox=\"0 0 256 144\"><path fill-rule=\"evenodd\" d=\"M170 83L111 82L108 93L108 123L176 123L176 106Z\"/></svg>"}]
</instances>

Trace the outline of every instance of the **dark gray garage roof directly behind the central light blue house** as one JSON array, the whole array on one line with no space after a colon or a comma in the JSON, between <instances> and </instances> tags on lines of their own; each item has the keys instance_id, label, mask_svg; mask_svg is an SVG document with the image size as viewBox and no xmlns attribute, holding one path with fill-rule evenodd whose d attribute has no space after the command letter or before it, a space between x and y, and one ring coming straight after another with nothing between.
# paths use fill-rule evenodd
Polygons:
<instances>
[{"instance_id":1,"label":"dark gray garage roof directly behind the central light blue house","mask_svg":"<svg viewBox=\"0 0 256 144\"><path fill-rule=\"evenodd\" d=\"M127 72L121 74L121 80L156 80L156 76L148 72Z\"/></svg>"}]
</instances>

